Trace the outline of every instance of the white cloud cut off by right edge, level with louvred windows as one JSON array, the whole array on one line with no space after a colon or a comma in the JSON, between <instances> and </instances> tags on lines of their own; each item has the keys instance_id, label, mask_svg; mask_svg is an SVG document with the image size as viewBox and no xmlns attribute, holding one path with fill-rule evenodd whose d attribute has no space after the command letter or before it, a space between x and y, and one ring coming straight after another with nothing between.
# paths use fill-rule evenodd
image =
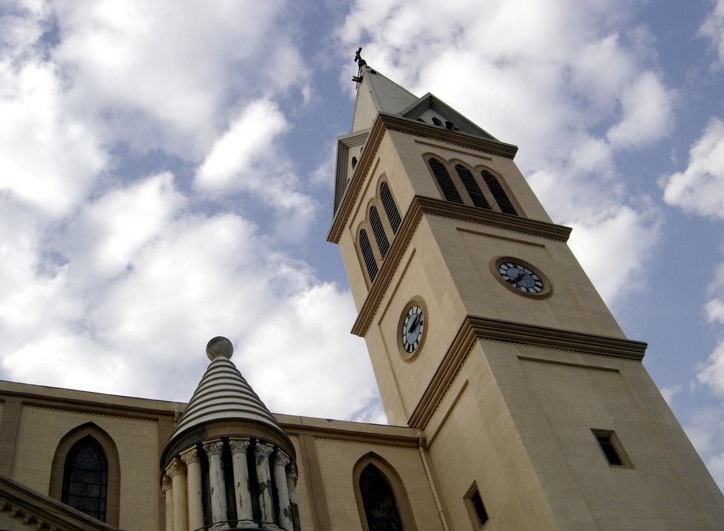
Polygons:
<instances>
[{"instance_id":1,"label":"white cloud cut off by right edge, level with louvred windows","mask_svg":"<svg viewBox=\"0 0 724 531\"><path fill-rule=\"evenodd\" d=\"M724 122L713 118L689 150L686 170L665 177L664 200L684 211L724 218Z\"/></svg>"}]
</instances>

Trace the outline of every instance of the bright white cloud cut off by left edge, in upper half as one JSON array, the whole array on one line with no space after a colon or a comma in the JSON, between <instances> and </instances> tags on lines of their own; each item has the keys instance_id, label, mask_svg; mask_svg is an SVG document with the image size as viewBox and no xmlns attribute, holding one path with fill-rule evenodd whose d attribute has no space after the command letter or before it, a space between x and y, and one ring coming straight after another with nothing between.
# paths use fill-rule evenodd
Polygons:
<instances>
[{"instance_id":1,"label":"bright white cloud cut off by left edge, in upper half","mask_svg":"<svg viewBox=\"0 0 724 531\"><path fill-rule=\"evenodd\" d=\"M52 64L0 61L0 191L63 216L88 193L106 155L82 120L65 109Z\"/></svg>"}]
</instances>

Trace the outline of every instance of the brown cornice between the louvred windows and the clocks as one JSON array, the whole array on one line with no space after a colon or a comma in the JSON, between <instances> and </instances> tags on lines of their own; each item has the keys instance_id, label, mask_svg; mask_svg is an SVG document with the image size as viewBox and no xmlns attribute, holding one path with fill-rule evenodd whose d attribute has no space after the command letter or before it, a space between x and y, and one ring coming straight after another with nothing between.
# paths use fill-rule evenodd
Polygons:
<instances>
[{"instance_id":1,"label":"brown cornice between the louvred windows and the clocks","mask_svg":"<svg viewBox=\"0 0 724 531\"><path fill-rule=\"evenodd\" d=\"M367 333L372 318L374 318L379 307L379 302L382 300L384 292L387 291L392 276L397 270L397 266L424 214L455 218L461 221L493 226L497 229L555 239L559 242L566 242L568 236L571 234L571 228L567 226L555 225L546 223L545 221L536 221L518 216L509 216L508 214L486 211L481 208L473 208L466 205L456 205L454 203L448 203L447 201L433 199L432 197L416 195L407 213L405 213L403 224L395 235L395 239L392 240L392 246L387 252L387 257L384 259L382 267L379 268L379 273L376 279L374 279L367 298L355 320L354 326L352 327L353 334L363 337Z\"/></svg>"}]
</instances>

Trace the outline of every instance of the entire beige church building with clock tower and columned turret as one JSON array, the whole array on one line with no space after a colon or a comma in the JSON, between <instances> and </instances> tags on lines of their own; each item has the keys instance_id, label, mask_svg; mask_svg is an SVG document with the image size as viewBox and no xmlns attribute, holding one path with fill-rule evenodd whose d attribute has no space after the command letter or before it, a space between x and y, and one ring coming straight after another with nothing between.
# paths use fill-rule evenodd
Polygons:
<instances>
[{"instance_id":1,"label":"entire beige church building with clock tower and columned turret","mask_svg":"<svg viewBox=\"0 0 724 531\"><path fill-rule=\"evenodd\" d=\"M224 338L188 404L0 382L0 530L724 529L517 148L358 64L328 239L391 425L271 414Z\"/></svg>"}]
</instances>

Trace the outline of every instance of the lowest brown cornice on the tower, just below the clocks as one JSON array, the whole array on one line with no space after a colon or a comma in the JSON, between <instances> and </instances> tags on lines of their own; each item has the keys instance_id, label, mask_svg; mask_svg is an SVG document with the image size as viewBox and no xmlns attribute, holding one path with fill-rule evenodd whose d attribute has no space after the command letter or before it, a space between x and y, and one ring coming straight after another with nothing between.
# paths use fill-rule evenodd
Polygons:
<instances>
[{"instance_id":1,"label":"lowest brown cornice on the tower, just below the clocks","mask_svg":"<svg viewBox=\"0 0 724 531\"><path fill-rule=\"evenodd\" d=\"M447 388L455 380L455 376L478 339L506 341L531 347L615 357L634 362L641 362L644 359L644 352L647 347L646 343L631 339L584 334L582 332L560 330L559 328L547 328L468 315L463 322L463 326L460 326L455 339L453 339L450 349L447 350L445 357L440 362L415 411L408 420L409 426L418 429L426 427L440 400L445 396Z\"/></svg>"}]
</instances>

